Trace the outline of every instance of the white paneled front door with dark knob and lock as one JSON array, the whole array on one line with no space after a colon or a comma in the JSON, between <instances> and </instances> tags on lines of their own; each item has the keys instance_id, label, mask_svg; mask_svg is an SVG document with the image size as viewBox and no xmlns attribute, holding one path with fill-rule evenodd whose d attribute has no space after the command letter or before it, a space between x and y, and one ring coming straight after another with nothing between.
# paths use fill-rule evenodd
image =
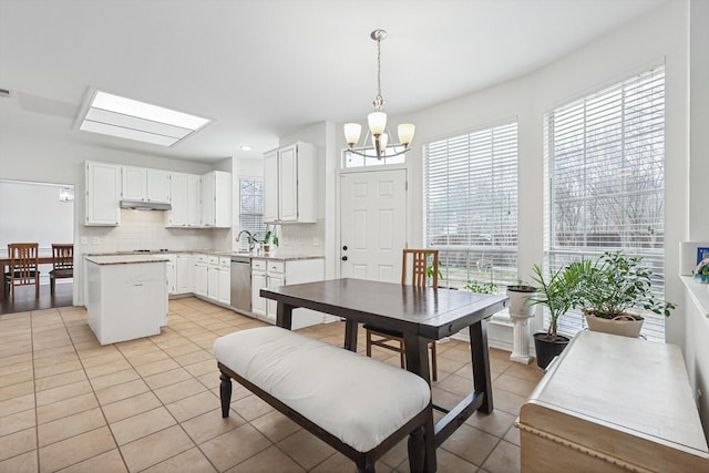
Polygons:
<instances>
[{"instance_id":1,"label":"white paneled front door with dark knob and lock","mask_svg":"<svg viewBox=\"0 0 709 473\"><path fill-rule=\"evenodd\" d=\"M340 184L340 276L399 282L407 244L407 171L347 173Z\"/></svg>"}]
</instances>

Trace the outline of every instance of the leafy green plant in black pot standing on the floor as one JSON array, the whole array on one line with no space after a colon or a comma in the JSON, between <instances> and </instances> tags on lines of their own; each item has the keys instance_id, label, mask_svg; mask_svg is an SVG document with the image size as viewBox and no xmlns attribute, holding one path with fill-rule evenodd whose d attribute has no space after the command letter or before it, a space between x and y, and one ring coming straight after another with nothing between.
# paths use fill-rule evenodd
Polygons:
<instances>
[{"instance_id":1,"label":"leafy green plant in black pot standing on the floor","mask_svg":"<svg viewBox=\"0 0 709 473\"><path fill-rule=\"evenodd\" d=\"M534 265L533 280L538 289L530 298L532 305L543 305L549 311L549 327L546 332L534 333L536 363L545 370L554 357L559 354L569 342L569 338L557 332L558 321L577 302L578 265L573 263L552 273L545 278L542 268Z\"/></svg>"}]
</instances>

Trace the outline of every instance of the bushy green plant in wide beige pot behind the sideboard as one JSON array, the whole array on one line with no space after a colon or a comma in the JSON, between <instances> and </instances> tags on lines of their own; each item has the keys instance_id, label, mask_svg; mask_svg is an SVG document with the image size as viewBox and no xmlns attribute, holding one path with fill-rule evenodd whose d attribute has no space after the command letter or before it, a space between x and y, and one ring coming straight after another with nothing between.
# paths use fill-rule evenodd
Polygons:
<instances>
[{"instance_id":1,"label":"bushy green plant in wide beige pot behind the sideboard","mask_svg":"<svg viewBox=\"0 0 709 473\"><path fill-rule=\"evenodd\" d=\"M653 294L653 270L643 258L606 251L582 266L577 307L584 309L589 330L638 337L645 319L633 309L669 317L675 305Z\"/></svg>"}]
</instances>

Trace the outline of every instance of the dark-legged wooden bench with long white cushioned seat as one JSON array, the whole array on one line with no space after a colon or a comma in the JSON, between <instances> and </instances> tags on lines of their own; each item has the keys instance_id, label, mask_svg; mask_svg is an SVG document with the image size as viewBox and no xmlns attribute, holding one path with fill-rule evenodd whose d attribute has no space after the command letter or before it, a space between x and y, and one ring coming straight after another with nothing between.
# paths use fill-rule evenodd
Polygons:
<instances>
[{"instance_id":1,"label":"dark-legged wooden bench with long white cushioned seat","mask_svg":"<svg viewBox=\"0 0 709 473\"><path fill-rule=\"evenodd\" d=\"M409 435L411 472L423 471L433 435L431 390L420 377L279 327L218 338L222 417L232 379L352 460L358 472Z\"/></svg>"}]
</instances>

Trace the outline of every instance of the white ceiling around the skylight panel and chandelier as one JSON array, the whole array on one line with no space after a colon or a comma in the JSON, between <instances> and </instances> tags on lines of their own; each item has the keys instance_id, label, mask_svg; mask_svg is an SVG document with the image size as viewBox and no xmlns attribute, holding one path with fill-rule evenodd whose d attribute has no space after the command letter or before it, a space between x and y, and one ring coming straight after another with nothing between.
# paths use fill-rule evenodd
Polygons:
<instances>
[{"instance_id":1,"label":"white ceiling around the skylight panel and chandelier","mask_svg":"<svg viewBox=\"0 0 709 473\"><path fill-rule=\"evenodd\" d=\"M527 74L665 0L0 0L0 138L214 162ZM79 131L92 90L209 117L173 147ZM248 144L250 152L240 150Z\"/></svg>"}]
</instances>

